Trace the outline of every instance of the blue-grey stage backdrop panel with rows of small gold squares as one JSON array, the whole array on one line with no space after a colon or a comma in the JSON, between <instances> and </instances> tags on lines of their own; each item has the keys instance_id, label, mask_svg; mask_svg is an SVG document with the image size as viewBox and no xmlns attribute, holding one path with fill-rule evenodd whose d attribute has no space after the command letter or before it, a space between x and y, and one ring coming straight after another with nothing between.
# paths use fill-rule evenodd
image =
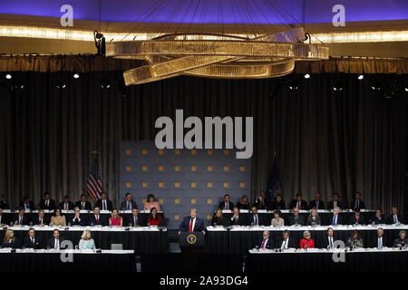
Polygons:
<instances>
[{"instance_id":1,"label":"blue-grey stage backdrop panel with rows of small gold squares","mask_svg":"<svg viewBox=\"0 0 408 290\"><path fill-rule=\"evenodd\" d=\"M190 208L209 225L225 194L234 204L250 197L250 172L251 160L236 159L235 150L158 150L153 141L123 141L118 200L130 192L142 209L153 194L169 228L178 228Z\"/></svg>"}]
</instances>

